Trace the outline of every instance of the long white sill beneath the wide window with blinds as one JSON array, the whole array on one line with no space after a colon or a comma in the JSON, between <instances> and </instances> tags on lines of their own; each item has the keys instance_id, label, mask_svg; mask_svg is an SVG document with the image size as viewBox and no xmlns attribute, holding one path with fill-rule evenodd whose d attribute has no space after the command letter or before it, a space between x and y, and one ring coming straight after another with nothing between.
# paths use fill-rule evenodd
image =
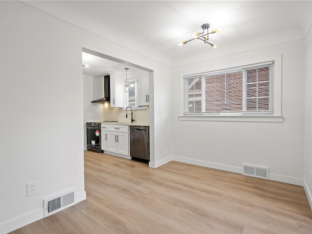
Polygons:
<instances>
[{"instance_id":1,"label":"long white sill beneath the wide window with blinds","mask_svg":"<svg viewBox=\"0 0 312 234\"><path fill-rule=\"evenodd\" d=\"M282 116L179 116L187 121L283 122Z\"/></svg>"}]
</instances>

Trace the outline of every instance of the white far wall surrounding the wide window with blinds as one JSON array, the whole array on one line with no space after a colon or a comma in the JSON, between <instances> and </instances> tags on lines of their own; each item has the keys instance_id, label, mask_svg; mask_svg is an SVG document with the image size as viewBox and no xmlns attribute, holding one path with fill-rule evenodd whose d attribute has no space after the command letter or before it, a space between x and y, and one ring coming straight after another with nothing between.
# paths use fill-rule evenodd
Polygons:
<instances>
[{"instance_id":1,"label":"white far wall surrounding the wide window with blinds","mask_svg":"<svg viewBox=\"0 0 312 234\"><path fill-rule=\"evenodd\" d=\"M255 45L256 47L256 45ZM283 122L182 121L181 76L219 65L282 55ZM174 160L242 172L242 163L270 168L270 179L301 184L304 138L304 41L284 43L174 68ZM181 85L180 85L181 87ZM183 86L182 86L183 87Z\"/></svg>"}]
</instances>

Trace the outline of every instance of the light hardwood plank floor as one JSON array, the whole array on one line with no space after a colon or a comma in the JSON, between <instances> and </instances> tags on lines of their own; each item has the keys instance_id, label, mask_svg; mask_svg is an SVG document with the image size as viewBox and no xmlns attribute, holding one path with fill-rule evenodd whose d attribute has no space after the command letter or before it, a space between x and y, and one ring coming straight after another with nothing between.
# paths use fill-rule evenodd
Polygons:
<instances>
[{"instance_id":1,"label":"light hardwood plank floor","mask_svg":"<svg viewBox=\"0 0 312 234\"><path fill-rule=\"evenodd\" d=\"M87 200L12 234L312 234L304 189L85 152Z\"/></svg>"}]
</instances>

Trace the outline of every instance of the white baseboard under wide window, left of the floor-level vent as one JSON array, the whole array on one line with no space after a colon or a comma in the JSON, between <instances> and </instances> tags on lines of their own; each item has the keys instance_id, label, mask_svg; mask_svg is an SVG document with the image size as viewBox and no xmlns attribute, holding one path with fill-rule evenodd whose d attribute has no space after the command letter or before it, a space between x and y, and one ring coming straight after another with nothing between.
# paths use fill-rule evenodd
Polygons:
<instances>
[{"instance_id":1,"label":"white baseboard under wide window, left of the floor-level vent","mask_svg":"<svg viewBox=\"0 0 312 234\"><path fill-rule=\"evenodd\" d=\"M222 171L227 171L227 172L234 172L238 174L242 174L242 168L241 167L234 167L234 166L229 166L229 165L224 165L224 164L219 164L219 163L214 163L214 162L207 162L207 161L202 161L202 160L196 160L192 158L186 158L186 157L178 157L178 156L173 156L174 161L178 162L185 162L197 166L203 166L203 167L209 167L209 168L214 168Z\"/></svg>"}]
</instances>

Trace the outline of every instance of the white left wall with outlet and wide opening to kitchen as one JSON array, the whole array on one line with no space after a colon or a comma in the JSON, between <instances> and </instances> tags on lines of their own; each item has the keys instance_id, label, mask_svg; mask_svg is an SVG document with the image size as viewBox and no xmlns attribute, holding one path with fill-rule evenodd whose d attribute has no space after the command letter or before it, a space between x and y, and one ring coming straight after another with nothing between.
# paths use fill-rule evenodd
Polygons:
<instances>
[{"instance_id":1,"label":"white left wall with outlet and wide opening to kitchen","mask_svg":"<svg viewBox=\"0 0 312 234\"><path fill-rule=\"evenodd\" d=\"M0 2L0 31L1 234L42 218L47 196L85 198L82 47L154 70L150 113L164 115L150 118L151 160L172 155L170 67L16 1ZM27 197L32 181L39 193Z\"/></svg>"}]
</instances>

